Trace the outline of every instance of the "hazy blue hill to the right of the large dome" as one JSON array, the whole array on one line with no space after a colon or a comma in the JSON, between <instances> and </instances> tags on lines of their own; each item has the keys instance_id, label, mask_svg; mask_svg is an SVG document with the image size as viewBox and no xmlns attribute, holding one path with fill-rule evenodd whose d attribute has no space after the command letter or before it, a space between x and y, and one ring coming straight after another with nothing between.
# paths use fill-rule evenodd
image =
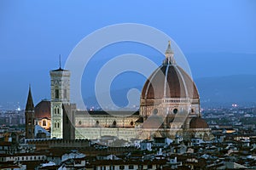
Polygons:
<instances>
[{"instance_id":1,"label":"hazy blue hill to the right of the large dome","mask_svg":"<svg viewBox=\"0 0 256 170\"><path fill-rule=\"evenodd\" d=\"M201 104L255 103L256 75L205 77L195 80Z\"/></svg>"}]
</instances>

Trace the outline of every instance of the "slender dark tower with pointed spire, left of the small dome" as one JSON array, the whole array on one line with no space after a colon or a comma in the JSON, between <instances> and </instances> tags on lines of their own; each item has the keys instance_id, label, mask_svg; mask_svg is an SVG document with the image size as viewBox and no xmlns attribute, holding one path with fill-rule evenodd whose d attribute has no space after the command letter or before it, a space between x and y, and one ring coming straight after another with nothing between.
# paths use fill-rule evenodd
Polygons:
<instances>
[{"instance_id":1,"label":"slender dark tower with pointed spire, left of the small dome","mask_svg":"<svg viewBox=\"0 0 256 170\"><path fill-rule=\"evenodd\" d=\"M25 116L26 116L26 139L34 139L35 135L35 112L34 112L34 104L32 99L31 88L29 86L28 96L26 100L26 109L25 109Z\"/></svg>"}]
</instances>

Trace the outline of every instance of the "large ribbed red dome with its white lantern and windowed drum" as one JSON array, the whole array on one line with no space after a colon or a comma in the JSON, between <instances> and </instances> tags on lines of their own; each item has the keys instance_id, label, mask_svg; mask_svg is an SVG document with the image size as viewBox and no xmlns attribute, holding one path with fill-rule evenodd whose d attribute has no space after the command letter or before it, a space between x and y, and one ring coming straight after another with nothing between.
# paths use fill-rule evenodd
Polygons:
<instances>
[{"instance_id":1,"label":"large ribbed red dome with its white lantern and windowed drum","mask_svg":"<svg viewBox=\"0 0 256 170\"><path fill-rule=\"evenodd\" d=\"M141 115L148 117L156 109L167 116L187 112L200 115L200 97L195 82L176 64L169 42L166 59L145 82L141 94Z\"/></svg>"}]
</instances>

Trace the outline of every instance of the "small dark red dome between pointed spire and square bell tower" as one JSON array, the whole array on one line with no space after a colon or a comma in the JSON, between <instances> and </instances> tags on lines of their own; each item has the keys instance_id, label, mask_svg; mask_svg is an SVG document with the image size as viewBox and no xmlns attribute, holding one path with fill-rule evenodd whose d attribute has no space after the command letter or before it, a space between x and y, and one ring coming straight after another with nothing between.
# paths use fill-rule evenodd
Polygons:
<instances>
[{"instance_id":1,"label":"small dark red dome between pointed spire and square bell tower","mask_svg":"<svg viewBox=\"0 0 256 170\"><path fill-rule=\"evenodd\" d=\"M44 117L50 118L50 101L42 100L35 107L35 118L41 119Z\"/></svg>"}]
</instances>

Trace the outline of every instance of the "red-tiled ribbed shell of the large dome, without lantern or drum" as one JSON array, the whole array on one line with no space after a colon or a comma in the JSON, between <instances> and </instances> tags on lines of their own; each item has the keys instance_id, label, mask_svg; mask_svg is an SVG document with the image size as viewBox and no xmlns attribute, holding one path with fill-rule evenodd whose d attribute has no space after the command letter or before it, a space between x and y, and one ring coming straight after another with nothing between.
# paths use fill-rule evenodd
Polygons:
<instances>
[{"instance_id":1,"label":"red-tiled ribbed shell of the large dome, without lantern or drum","mask_svg":"<svg viewBox=\"0 0 256 170\"><path fill-rule=\"evenodd\" d=\"M195 82L178 65L161 65L145 82L142 99L199 99Z\"/></svg>"}]
</instances>

